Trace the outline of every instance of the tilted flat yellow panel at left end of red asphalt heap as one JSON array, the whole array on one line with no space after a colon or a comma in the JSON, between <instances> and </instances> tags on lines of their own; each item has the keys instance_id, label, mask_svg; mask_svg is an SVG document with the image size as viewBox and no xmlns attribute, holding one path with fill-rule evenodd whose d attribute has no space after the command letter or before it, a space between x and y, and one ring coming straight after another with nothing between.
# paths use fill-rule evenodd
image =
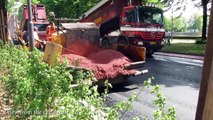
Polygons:
<instances>
[{"instance_id":1,"label":"tilted flat yellow panel at left end of red asphalt heap","mask_svg":"<svg viewBox=\"0 0 213 120\"><path fill-rule=\"evenodd\" d=\"M61 52L62 52L61 45L47 42L45 51L44 51L43 61L48 63L49 65L54 65L56 62L57 56L61 55Z\"/></svg>"}]
</instances>

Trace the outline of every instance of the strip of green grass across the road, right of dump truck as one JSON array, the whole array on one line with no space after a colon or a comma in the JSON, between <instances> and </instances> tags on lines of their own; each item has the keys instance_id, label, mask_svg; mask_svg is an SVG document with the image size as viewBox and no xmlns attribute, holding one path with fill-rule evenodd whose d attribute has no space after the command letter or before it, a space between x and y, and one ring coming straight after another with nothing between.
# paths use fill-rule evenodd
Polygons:
<instances>
[{"instance_id":1,"label":"strip of green grass across the road, right of dump truck","mask_svg":"<svg viewBox=\"0 0 213 120\"><path fill-rule=\"evenodd\" d=\"M195 43L172 43L170 46L164 46L162 52L175 52L185 54L204 55L205 44Z\"/></svg>"}]
</instances>

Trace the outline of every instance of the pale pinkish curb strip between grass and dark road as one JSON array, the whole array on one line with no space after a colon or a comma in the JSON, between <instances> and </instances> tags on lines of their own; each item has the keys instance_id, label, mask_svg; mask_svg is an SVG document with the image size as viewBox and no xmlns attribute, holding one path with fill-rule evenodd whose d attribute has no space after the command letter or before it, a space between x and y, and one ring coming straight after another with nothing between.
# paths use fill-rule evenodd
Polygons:
<instances>
[{"instance_id":1,"label":"pale pinkish curb strip between grass and dark road","mask_svg":"<svg viewBox=\"0 0 213 120\"><path fill-rule=\"evenodd\" d=\"M195 60L204 60L203 55L193 55L193 54L174 53L174 52L156 52L154 54L155 55L170 56L170 57L180 57L180 58L188 58L188 59L195 59Z\"/></svg>"}]
</instances>

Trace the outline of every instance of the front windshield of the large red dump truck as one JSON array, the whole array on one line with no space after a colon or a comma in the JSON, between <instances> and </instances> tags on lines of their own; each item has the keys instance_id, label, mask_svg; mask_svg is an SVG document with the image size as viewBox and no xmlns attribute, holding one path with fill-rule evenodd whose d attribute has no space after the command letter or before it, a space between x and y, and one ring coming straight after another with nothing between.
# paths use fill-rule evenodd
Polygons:
<instances>
[{"instance_id":1,"label":"front windshield of the large red dump truck","mask_svg":"<svg viewBox=\"0 0 213 120\"><path fill-rule=\"evenodd\" d=\"M140 7L138 15L140 23L163 24L163 12L159 8Z\"/></svg>"}]
</instances>

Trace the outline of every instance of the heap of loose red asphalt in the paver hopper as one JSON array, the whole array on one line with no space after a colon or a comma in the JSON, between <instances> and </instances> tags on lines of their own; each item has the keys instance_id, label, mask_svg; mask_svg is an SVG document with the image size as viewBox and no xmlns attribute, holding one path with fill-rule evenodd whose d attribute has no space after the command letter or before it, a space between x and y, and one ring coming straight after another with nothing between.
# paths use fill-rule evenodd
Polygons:
<instances>
[{"instance_id":1,"label":"heap of loose red asphalt in the paver hopper","mask_svg":"<svg viewBox=\"0 0 213 120\"><path fill-rule=\"evenodd\" d=\"M81 46L81 47L79 47ZM125 70L124 64L132 61L116 50L100 49L87 43L75 42L63 51L62 59L67 58L70 65L91 69L97 79L109 79L122 75L135 74L135 70Z\"/></svg>"}]
</instances>

